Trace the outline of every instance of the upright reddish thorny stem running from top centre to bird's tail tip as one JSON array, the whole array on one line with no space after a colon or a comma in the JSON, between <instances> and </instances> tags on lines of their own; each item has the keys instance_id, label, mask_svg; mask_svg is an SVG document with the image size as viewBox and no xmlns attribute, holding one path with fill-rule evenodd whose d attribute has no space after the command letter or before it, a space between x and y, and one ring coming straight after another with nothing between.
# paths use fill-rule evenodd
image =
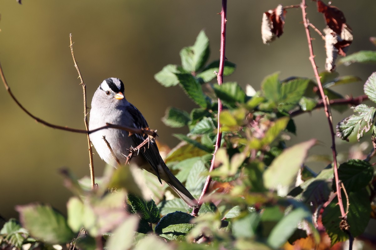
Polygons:
<instances>
[{"instance_id":1,"label":"upright reddish thorny stem running from top centre to bird's tail tip","mask_svg":"<svg viewBox=\"0 0 376 250\"><path fill-rule=\"evenodd\" d=\"M217 82L218 85L221 85L223 83L223 69L224 69L224 60L226 59L225 56L225 49L226 49L226 11L227 11L227 0L222 0L222 10L221 10L221 50L220 50L220 58L219 58L219 70L217 74ZM209 168L209 175L206 178L205 185L202 189L199 201L198 201L198 206L193 209L192 215L197 216L197 214L200 211L201 205L202 205L202 198L203 196L208 192L209 190L209 185L211 183L211 171L214 169L214 161L215 161L215 153L217 152L218 148L221 146L221 140L222 140L222 133L221 133L221 126L220 126L220 114L223 108L223 104L221 100L218 98L218 130L217 130L217 141L215 142L215 148L214 148L214 154L213 158L211 160L211 165Z\"/></svg>"}]
</instances>

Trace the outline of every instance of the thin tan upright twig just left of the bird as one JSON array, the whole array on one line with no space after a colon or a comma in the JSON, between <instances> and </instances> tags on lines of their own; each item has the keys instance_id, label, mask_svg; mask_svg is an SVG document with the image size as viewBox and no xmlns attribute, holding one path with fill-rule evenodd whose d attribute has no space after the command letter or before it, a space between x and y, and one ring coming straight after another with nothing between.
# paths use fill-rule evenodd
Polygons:
<instances>
[{"instance_id":1,"label":"thin tan upright twig just left of the bird","mask_svg":"<svg viewBox=\"0 0 376 250\"><path fill-rule=\"evenodd\" d=\"M74 67L76 67L78 77L81 80L81 85L82 85L82 90L83 90L83 122L85 123L85 129L86 131L89 131L89 125L88 125L88 108L86 105L86 85L83 83L82 75L81 72L78 68L78 65L76 63L76 59L74 58L74 53L73 53L73 43L72 43L72 34L69 34L69 40L70 40L70 48L71 48L71 53L72 53L72 58L74 62ZM94 189L94 161L93 161L93 151L91 148L91 141L89 138L89 134L87 134L88 138L88 148L89 148L89 169L90 169L90 179L91 179L91 189Z\"/></svg>"}]
</instances>

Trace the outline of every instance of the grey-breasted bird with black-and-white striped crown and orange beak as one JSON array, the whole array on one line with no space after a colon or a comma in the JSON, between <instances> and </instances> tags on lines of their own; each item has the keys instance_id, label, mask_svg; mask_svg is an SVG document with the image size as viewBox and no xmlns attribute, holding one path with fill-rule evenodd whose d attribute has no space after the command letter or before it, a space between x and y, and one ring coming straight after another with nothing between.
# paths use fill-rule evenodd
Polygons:
<instances>
[{"instance_id":1,"label":"grey-breasted bird with black-and-white striped crown and orange beak","mask_svg":"<svg viewBox=\"0 0 376 250\"><path fill-rule=\"evenodd\" d=\"M124 97L124 91L124 84L118 78L105 79L99 85L91 101L89 130L106 126L106 123L136 129L149 128L143 114ZM90 141L100 158L115 168L118 167L118 163L121 165L127 163L130 150L143 143L148 136L115 128L102 129L89 134ZM188 206L191 208L198 206L196 199L166 166L153 137L149 136L149 143L132 156L130 159L132 163L156 175L161 184L161 180L164 180ZM118 162L115 161L115 157Z\"/></svg>"}]
</instances>

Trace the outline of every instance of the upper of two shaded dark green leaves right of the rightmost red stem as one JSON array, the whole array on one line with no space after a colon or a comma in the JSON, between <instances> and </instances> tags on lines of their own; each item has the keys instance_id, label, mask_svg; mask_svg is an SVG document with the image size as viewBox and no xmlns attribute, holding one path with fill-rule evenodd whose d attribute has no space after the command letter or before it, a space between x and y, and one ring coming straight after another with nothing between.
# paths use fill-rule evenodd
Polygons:
<instances>
[{"instance_id":1,"label":"upper of two shaded dark green leaves right of the rightmost red stem","mask_svg":"<svg viewBox=\"0 0 376 250\"><path fill-rule=\"evenodd\" d=\"M373 178L373 167L369 162L350 159L338 168L338 178L346 192L357 191L366 187Z\"/></svg>"}]
</instances>

